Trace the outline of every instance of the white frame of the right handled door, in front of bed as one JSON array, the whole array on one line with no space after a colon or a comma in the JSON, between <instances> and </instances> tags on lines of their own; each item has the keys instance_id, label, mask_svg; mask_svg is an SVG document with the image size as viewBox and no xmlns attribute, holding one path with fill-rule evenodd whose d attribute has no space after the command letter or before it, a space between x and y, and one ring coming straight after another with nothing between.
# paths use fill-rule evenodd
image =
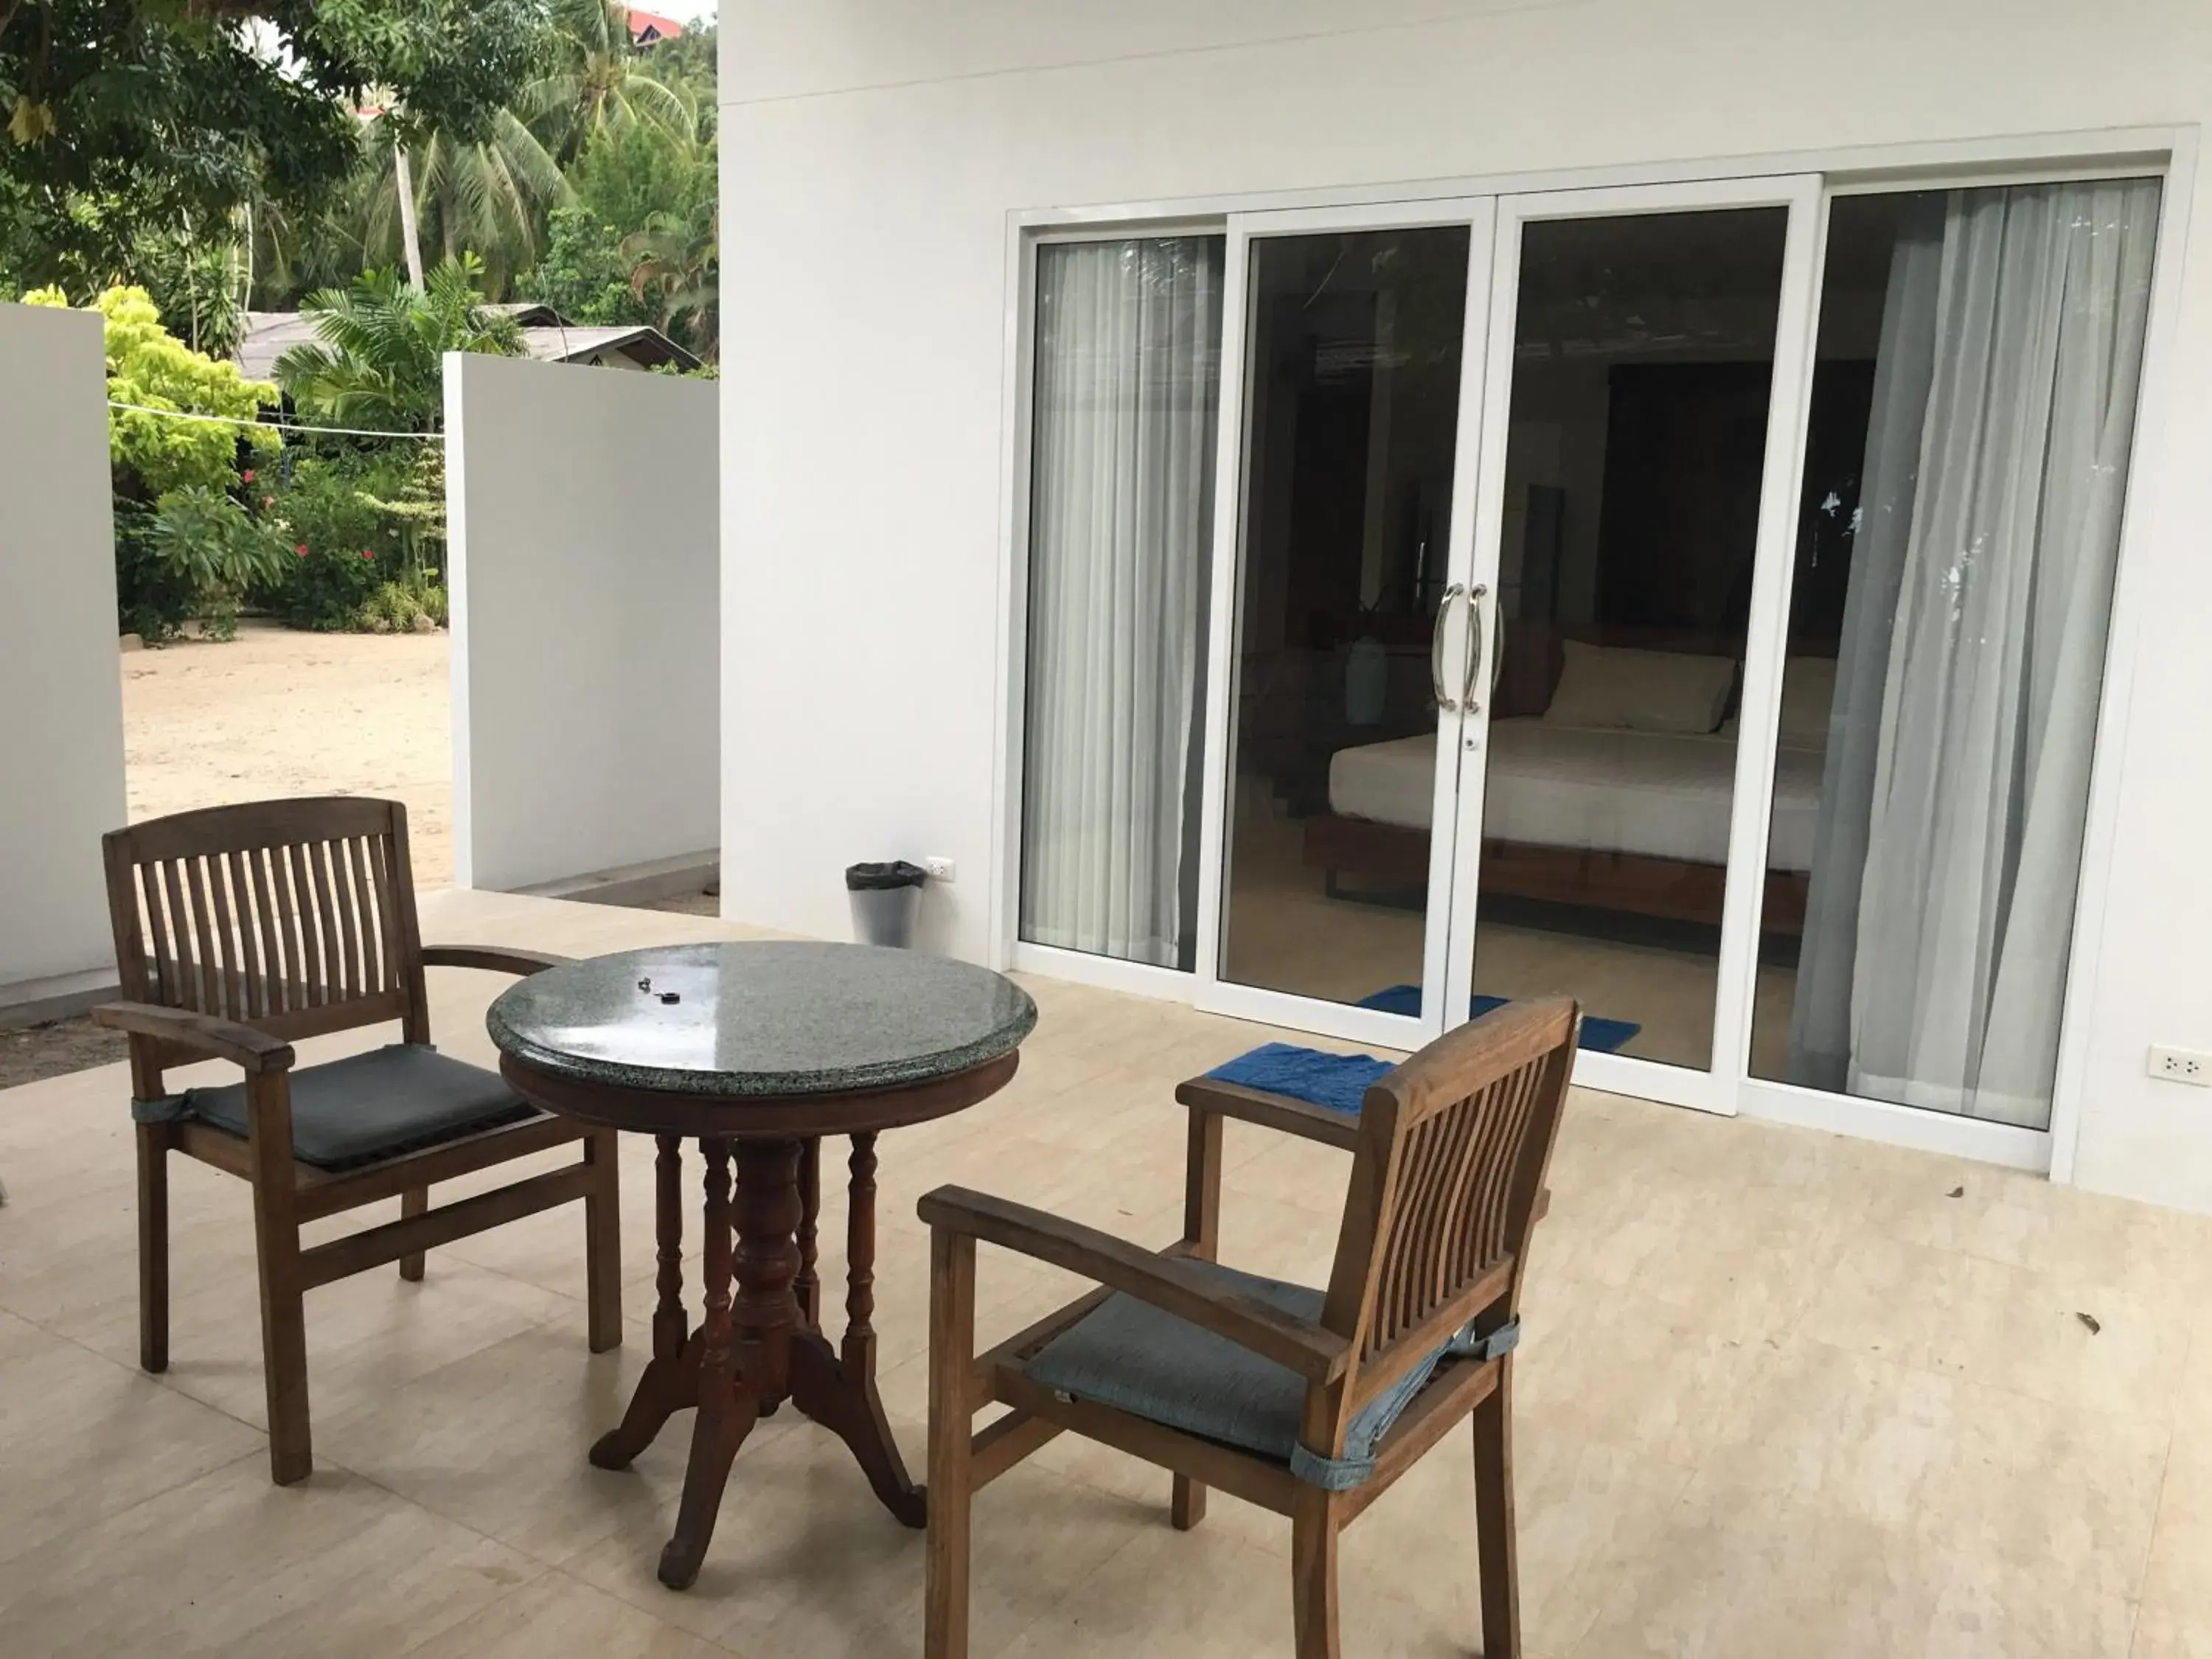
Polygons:
<instances>
[{"instance_id":1,"label":"white frame of the right handled door, in front of bed","mask_svg":"<svg viewBox=\"0 0 2212 1659\"><path fill-rule=\"evenodd\" d=\"M1721 958L1714 975L1712 1064L1705 1071L1668 1066L1628 1055L1579 1053L1575 1082L1617 1095L1641 1095L1708 1113L1736 1110L1741 1064L1730 1060L1745 1046L1750 984L1759 971L1759 891L1765 874L1767 801L1763 776L1772 774L1772 741L1781 688L1790 542L1796 533L1796 491L1805 449L1805 387L1812 376L1814 325L1820 314L1818 215L1820 179L1785 175L1767 179L1703 179L1692 184L1610 186L1599 190L1546 190L1502 197L1498 204L1498 254L1491 276L1489 338L1484 365L1482 460L1475 469L1473 588L1484 591L1484 630L1495 637L1498 577L1504 540L1506 445L1513 407L1513 349L1520 312L1522 228L1546 219L1601 219L1657 212L1701 212L1728 208L1783 208L1787 232L1774 330L1774 380L1767 400L1767 453L1759 484L1759 544L1754 553L1750 659L1743 677L1743 714L1736 739L1736 794L1728 834L1728 898L1721 911ZM1491 646L1495 650L1495 644ZM1486 653L1489 655L1489 653ZM1489 774L1489 697L1484 710L1467 719L1460 741L1460 818L1444 975L1447 1026L1464 1024L1475 993L1475 914L1482 869L1482 792ZM1756 796L1756 799L1754 799Z\"/></svg>"}]
</instances>

